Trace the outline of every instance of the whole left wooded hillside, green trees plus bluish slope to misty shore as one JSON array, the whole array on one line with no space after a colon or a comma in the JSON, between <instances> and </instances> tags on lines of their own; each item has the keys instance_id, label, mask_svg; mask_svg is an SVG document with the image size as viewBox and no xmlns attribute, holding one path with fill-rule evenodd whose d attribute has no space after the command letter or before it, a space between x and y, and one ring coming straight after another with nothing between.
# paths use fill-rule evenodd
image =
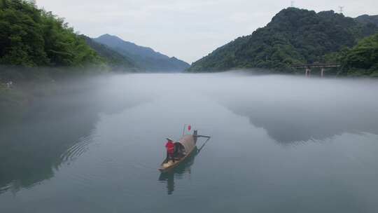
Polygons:
<instances>
[{"instance_id":1,"label":"whole left wooded hillside, green trees plus bluish slope to misty shore","mask_svg":"<svg viewBox=\"0 0 378 213\"><path fill-rule=\"evenodd\" d=\"M37 8L30 0L0 1L0 64L0 83L50 81L120 69L139 71L126 57L77 34L63 18Z\"/></svg>"}]
</instances>

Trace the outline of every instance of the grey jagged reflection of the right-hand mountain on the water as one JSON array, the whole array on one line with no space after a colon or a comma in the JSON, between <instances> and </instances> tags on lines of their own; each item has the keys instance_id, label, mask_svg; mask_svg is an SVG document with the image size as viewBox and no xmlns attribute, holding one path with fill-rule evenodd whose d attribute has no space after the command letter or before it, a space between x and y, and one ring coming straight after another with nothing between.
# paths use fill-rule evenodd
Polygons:
<instances>
[{"instance_id":1,"label":"grey jagged reflection of the right-hand mountain on the water","mask_svg":"<svg viewBox=\"0 0 378 213\"><path fill-rule=\"evenodd\" d=\"M307 103L293 104L277 99L234 103L229 109L246 116L255 127L264 128L277 142L287 144L324 140L345 132L378 135L378 111L368 102L361 102L359 106L323 102L309 107ZM374 111L376 113L372 113Z\"/></svg>"}]
</instances>

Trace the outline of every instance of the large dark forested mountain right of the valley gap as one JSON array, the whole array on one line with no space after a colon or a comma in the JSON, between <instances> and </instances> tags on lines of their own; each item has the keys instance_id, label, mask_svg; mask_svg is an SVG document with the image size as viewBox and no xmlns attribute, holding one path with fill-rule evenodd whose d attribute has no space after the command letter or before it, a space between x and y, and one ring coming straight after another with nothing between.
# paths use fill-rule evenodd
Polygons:
<instances>
[{"instance_id":1,"label":"large dark forested mountain right of the valley gap","mask_svg":"<svg viewBox=\"0 0 378 213\"><path fill-rule=\"evenodd\" d=\"M188 71L263 68L290 72L292 64L325 62L328 53L354 46L377 31L376 25L334 11L286 8L266 27L214 50Z\"/></svg>"}]
</instances>

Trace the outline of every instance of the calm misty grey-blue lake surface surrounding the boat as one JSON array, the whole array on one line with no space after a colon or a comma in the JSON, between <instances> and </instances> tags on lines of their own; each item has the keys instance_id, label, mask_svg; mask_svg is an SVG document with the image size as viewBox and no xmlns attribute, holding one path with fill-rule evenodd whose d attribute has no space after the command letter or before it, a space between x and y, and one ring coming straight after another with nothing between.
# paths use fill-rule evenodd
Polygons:
<instances>
[{"instance_id":1,"label":"calm misty grey-blue lake surface surrounding the boat","mask_svg":"<svg viewBox=\"0 0 378 213\"><path fill-rule=\"evenodd\" d=\"M375 212L377 91L235 72L67 82L0 127L0 212ZM183 124L211 140L160 174Z\"/></svg>"}]
</instances>

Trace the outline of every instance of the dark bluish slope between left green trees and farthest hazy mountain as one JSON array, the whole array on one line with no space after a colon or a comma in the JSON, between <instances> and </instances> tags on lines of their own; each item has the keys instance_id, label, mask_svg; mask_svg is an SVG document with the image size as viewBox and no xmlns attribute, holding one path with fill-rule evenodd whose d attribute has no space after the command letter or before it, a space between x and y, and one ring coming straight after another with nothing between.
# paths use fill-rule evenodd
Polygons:
<instances>
[{"instance_id":1,"label":"dark bluish slope between left green trees and farthest hazy mountain","mask_svg":"<svg viewBox=\"0 0 378 213\"><path fill-rule=\"evenodd\" d=\"M81 35L90 48L97 52L102 57L106 64L116 71L140 71L140 68L132 62L132 59L121 55L117 51L109 48L108 46L94 41L88 36Z\"/></svg>"}]
</instances>

